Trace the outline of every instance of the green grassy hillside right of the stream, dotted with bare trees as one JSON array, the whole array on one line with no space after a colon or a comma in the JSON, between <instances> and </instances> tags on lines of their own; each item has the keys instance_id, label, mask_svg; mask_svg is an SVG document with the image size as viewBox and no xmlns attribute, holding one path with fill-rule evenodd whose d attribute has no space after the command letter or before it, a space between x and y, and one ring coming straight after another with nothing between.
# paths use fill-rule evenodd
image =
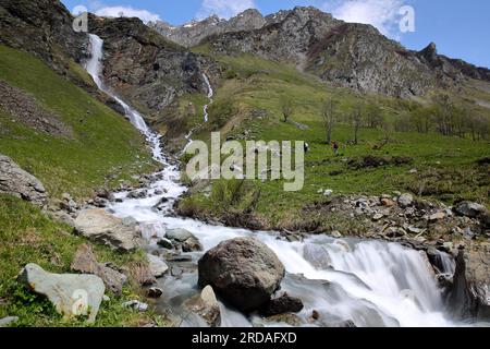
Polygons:
<instances>
[{"instance_id":1,"label":"green grassy hillside right of the stream, dotted with bare trees","mask_svg":"<svg viewBox=\"0 0 490 349\"><path fill-rule=\"evenodd\" d=\"M206 47L198 50L206 52ZM306 180L302 191L283 192L282 181L248 183L250 191L260 189L260 200L255 213L272 227L285 220L294 220L302 207L324 200L318 192L326 189L333 190L335 195L379 195L395 190L411 191L416 195L448 203L467 198L490 204L488 167L476 164L476 160L490 156L488 142L473 142L469 139L437 133L395 132L396 121L409 111L411 105L407 101L377 95L359 96L344 88L328 86L315 76L299 73L293 67L249 55L217 59L228 67L228 79L217 89L216 103L209 109L209 124L200 130L197 139L206 141L211 130L220 129L224 134L223 139L297 140L310 145L310 153L306 155ZM365 105L377 105L387 120L385 127L362 128L359 144L342 148L342 156L333 156L330 146L324 143L326 131L321 117L322 101L330 97L339 101L341 116L346 116L358 100ZM308 127L307 130L282 121L281 98L293 101L294 113L291 120ZM223 110L232 112L223 118ZM254 117L254 110L265 110L265 117ZM490 110L481 108L481 112L490 116ZM380 144L385 136L390 139L390 143L381 151L375 151L373 145ZM334 141L346 144L353 139L353 128L345 121L335 125ZM409 157L413 161L401 166L360 169L346 163L368 155ZM417 172L411 173L412 169L417 169ZM197 194L184 200L181 206L187 212L220 215L221 206L213 197Z\"/></svg>"}]
</instances>

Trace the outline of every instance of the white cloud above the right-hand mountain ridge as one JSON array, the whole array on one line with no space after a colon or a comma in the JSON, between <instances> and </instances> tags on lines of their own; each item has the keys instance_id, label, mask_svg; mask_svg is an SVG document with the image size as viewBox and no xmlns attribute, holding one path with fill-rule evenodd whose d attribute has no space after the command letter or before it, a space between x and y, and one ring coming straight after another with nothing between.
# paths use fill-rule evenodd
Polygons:
<instances>
[{"instance_id":1,"label":"white cloud above the right-hand mountain ridge","mask_svg":"<svg viewBox=\"0 0 490 349\"><path fill-rule=\"evenodd\" d=\"M322 10L345 22L371 24L383 35L399 38L399 11L403 5L403 0L334 0L327 1Z\"/></svg>"}]
</instances>

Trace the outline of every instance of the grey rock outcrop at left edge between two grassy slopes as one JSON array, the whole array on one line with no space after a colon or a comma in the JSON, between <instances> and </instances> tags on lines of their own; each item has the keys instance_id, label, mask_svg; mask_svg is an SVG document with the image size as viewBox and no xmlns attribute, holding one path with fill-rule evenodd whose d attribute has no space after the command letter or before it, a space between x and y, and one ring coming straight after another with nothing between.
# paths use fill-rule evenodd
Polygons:
<instances>
[{"instance_id":1,"label":"grey rock outcrop at left edge between two grassy slopes","mask_svg":"<svg viewBox=\"0 0 490 349\"><path fill-rule=\"evenodd\" d=\"M0 154L0 193L44 205L47 200L46 189L33 174L24 171L10 157Z\"/></svg>"}]
</instances>

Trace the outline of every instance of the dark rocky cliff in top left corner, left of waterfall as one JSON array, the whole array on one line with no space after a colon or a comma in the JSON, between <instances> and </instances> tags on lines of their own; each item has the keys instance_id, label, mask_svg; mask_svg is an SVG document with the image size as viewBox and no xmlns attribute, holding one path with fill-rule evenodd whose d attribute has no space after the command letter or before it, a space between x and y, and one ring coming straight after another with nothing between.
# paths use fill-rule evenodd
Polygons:
<instances>
[{"instance_id":1,"label":"dark rocky cliff in top left corner, left of waterfall","mask_svg":"<svg viewBox=\"0 0 490 349\"><path fill-rule=\"evenodd\" d=\"M68 60L86 57L88 37L75 33L73 17L59 1L2 0L0 2L0 44L29 51L62 74Z\"/></svg>"}]
</instances>

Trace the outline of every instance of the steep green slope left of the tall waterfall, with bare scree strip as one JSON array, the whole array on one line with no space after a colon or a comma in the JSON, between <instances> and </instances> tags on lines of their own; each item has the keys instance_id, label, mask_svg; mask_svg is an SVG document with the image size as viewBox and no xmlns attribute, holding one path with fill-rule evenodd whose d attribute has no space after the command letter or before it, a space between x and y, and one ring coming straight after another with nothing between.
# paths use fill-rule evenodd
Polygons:
<instances>
[{"instance_id":1,"label":"steep green slope left of the tall waterfall, with bare scree strip","mask_svg":"<svg viewBox=\"0 0 490 349\"><path fill-rule=\"evenodd\" d=\"M0 46L0 80L34 96L74 131L73 139L36 132L0 109L0 153L38 177L52 196L88 196L93 188L150 168L142 135L123 117L40 60Z\"/></svg>"}]
</instances>

